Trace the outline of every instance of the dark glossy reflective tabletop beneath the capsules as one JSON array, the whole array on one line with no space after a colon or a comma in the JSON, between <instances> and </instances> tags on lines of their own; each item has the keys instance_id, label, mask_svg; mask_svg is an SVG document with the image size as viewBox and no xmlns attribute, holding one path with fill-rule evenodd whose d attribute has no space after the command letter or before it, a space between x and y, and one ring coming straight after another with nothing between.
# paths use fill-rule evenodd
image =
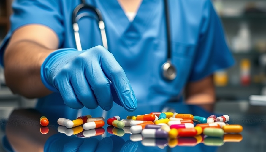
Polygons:
<instances>
[{"instance_id":1,"label":"dark glossy reflective tabletop beneath the capsules","mask_svg":"<svg viewBox=\"0 0 266 152\"><path fill-rule=\"evenodd\" d=\"M5 128L0 145L5 151L27 152L266 151L265 106L250 105L248 102L218 102L214 105L169 103L160 106L149 105L149 108L138 110L138 113L132 113L132 115L161 111L189 113L205 118L213 114L216 116L229 115L230 120L228 124L240 124L243 126L243 131L240 134L224 134L222 137L199 135L197 137L178 137L171 140L143 139L141 134L131 134L129 127L117 129L108 126L106 123L108 118L105 118L103 128L84 131L81 129L82 127L66 129L63 126L59 126L53 120L57 120L60 117L54 115L53 118L47 117L51 121L47 127L42 127L39 119L41 116L45 116L43 113L35 109L16 109L11 113L7 121L0 121L1 127ZM90 115L94 116L94 114ZM121 119L125 119L127 115L126 113L125 115L119 116Z\"/></svg>"}]
</instances>

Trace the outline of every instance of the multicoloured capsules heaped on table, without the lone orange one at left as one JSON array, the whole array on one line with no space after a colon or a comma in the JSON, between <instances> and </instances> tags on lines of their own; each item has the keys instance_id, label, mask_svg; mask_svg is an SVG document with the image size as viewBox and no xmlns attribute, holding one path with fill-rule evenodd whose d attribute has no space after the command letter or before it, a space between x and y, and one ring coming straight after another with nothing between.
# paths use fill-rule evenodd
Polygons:
<instances>
[{"instance_id":1,"label":"multicoloured capsules heaped on table, without the lone orange one at left","mask_svg":"<svg viewBox=\"0 0 266 152\"><path fill-rule=\"evenodd\" d=\"M92 137L104 133L102 128L104 118L92 118L86 115L69 120L59 118L58 131L66 135L77 137ZM199 143L211 146L221 146L224 142L239 142L242 140L243 127L229 125L228 115L208 118L193 116L191 114L178 114L172 112L152 112L145 115L127 116L120 119L114 116L107 119L107 132L117 136L128 133L130 140L141 141L144 146L194 146ZM81 126L83 125L83 126Z\"/></svg>"}]
</instances>

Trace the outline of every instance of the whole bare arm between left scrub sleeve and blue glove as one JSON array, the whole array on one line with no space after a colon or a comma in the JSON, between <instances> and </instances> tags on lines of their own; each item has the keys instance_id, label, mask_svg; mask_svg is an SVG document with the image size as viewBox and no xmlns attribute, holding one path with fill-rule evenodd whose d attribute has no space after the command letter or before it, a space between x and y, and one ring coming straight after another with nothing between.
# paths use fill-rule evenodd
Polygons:
<instances>
[{"instance_id":1,"label":"whole bare arm between left scrub sleeve and blue glove","mask_svg":"<svg viewBox=\"0 0 266 152\"><path fill-rule=\"evenodd\" d=\"M26 25L17 29L4 53L7 86L15 94L28 98L50 94L42 83L40 67L58 48L56 33L44 25Z\"/></svg>"}]
</instances>

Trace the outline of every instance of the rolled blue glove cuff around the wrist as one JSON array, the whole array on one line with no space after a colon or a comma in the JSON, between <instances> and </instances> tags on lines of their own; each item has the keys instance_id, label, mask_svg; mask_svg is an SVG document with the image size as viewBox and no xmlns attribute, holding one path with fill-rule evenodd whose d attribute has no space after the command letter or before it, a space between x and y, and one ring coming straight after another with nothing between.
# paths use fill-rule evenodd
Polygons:
<instances>
[{"instance_id":1,"label":"rolled blue glove cuff around the wrist","mask_svg":"<svg viewBox=\"0 0 266 152\"><path fill-rule=\"evenodd\" d=\"M41 66L41 80L42 80L42 83L45 85L45 87L47 89L49 89L50 91L53 91L53 92L58 92L58 90L52 85L49 83L49 81L47 80L47 75L46 75L46 71L47 71L47 68L49 68L47 66L47 64L50 63L50 59L53 58L53 56L57 56L58 54L60 54L61 52L65 52L65 51L77 51L77 49L74 49L74 48L64 48L64 49L58 49L52 53L50 53L44 60L44 62L42 63L42 66Z\"/></svg>"}]
</instances>

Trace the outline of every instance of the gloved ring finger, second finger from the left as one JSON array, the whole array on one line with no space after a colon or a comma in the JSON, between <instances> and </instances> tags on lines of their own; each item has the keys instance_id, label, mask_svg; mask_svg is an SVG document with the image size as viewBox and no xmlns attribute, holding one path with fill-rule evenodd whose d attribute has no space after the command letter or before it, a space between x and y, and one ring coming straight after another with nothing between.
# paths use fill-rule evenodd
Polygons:
<instances>
[{"instance_id":1,"label":"gloved ring finger, second finger from the left","mask_svg":"<svg viewBox=\"0 0 266 152\"><path fill-rule=\"evenodd\" d=\"M71 84L77 96L77 99L88 109L95 109L98 107L98 102L94 96L94 93L89 85L83 71L78 69L75 76L71 78Z\"/></svg>"}]
</instances>

